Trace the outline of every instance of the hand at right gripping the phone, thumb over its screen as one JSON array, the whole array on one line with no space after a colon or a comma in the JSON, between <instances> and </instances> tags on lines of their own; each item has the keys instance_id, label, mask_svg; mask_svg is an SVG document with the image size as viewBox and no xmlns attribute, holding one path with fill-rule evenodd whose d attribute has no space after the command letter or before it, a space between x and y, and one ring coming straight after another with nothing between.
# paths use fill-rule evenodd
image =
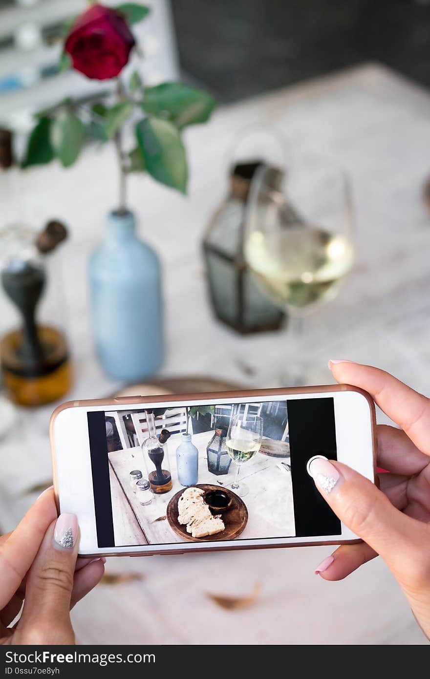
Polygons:
<instances>
[{"instance_id":1,"label":"hand at right gripping the phone, thumb over its screen","mask_svg":"<svg viewBox=\"0 0 430 679\"><path fill-rule=\"evenodd\" d=\"M315 460L310 472L325 500L363 543L342 545L315 572L341 580L380 554L430 638L430 400L389 373L329 361L338 382L368 391L401 427L378 425L376 485L340 462Z\"/></svg>"}]
</instances>

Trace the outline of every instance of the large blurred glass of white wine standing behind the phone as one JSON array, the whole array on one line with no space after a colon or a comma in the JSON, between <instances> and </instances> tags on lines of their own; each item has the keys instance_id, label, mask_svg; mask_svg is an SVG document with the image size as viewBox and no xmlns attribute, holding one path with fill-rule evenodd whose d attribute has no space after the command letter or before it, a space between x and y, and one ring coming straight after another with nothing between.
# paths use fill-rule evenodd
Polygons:
<instances>
[{"instance_id":1,"label":"large blurred glass of white wine standing behind the phone","mask_svg":"<svg viewBox=\"0 0 430 679\"><path fill-rule=\"evenodd\" d=\"M336 297L354 260L353 206L346 173L325 158L303 157L288 173L263 166L247 207L245 261L268 297L289 314L295 344L285 386L306 384L300 358L304 318Z\"/></svg>"}]
</instances>

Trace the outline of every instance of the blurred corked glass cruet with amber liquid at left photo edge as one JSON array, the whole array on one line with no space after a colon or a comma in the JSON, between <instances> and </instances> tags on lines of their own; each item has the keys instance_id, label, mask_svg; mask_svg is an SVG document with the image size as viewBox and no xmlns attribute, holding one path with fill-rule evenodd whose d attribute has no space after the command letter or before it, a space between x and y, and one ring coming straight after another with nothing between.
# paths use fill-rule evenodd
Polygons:
<instances>
[{"instance_id":1,"label":"blurred corked glass cruet with amber liquid at left photo edge","mask_svg":"<svg viewBox=\"0 0 430 679\"><path fill-rule=\"evenodd\" d=\"M20 223L0 232L1 373L5 393L19 405L51 403L71 387L53 252L65 237L65 227L56 221L39 234Z\"/></svg>"}]
</instances>

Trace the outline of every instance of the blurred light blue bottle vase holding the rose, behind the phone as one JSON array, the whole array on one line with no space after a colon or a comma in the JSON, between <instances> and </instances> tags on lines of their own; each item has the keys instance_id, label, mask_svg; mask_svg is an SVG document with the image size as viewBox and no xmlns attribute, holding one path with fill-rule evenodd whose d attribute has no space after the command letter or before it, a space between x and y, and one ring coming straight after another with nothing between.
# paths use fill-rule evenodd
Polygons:
<instances>
[{"instance_id":1,"label":"blurred light blue bottle vase holding the rose, behind the phone","mask_svg":"<svg viewBox=\"0 0 430 679\"><path fill-rule=\"evenodd\" d=\"M132 213L109 214L105 240L92 253L89 273L103 369L127 382L154 374L164 355L160 261L137 238Z\"/></svg>"}]
</instances>

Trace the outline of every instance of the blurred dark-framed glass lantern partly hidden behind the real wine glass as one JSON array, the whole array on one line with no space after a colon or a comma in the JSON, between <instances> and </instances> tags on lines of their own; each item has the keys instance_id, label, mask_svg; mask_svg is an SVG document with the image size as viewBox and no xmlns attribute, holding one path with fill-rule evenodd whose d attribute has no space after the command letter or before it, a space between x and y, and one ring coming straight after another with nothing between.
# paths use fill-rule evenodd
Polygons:
<instances>
[{"instance_id":1,"label":"blurred dark-framed glass lantern partly hidden behind the real wine glass","mask_svg":"<svg viewBox=\"0 0 430 679\"><path fill-rule=\"evenodd\" d=\"M255 172L264 163L240 162L230 172L230 190L203 240L209 298L215 316L239 333L276 330L284 314L259 289L244 258L247 199ZM283 172L273 168L274 186Z\"/></svg>"}]
</instances>

